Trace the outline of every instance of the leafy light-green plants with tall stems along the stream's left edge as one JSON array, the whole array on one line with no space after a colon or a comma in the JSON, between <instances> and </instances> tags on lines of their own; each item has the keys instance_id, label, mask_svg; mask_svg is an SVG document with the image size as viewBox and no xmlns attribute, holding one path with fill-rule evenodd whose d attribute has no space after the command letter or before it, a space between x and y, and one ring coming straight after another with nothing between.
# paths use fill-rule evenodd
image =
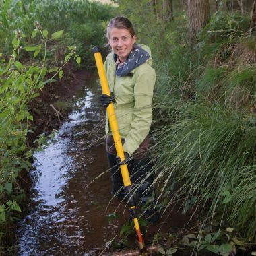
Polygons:
<instances>
[{"instance_id":1,"label":"leafy light-green plants with tall stems along the stream's left edge","mask_svg":"<svg viewBox=\"0 0 256 256\"><path fill-rule=\"evenodd\" d=\"M36 98L46 84L54 81L59 76L61 79L62 68L71 58L79 62L79 56L75 54L75 48L69 47L69 53L61 67L46 66L47 44L51 40L61 38L63 31L58 31L51 36L46 29L42 29L36 22L36 29L32 37L40 36L41 43L34 46L24 46L22 40L24 34L16 32L12 40L13 52L9 61L0 61L0 228L4 229L9 222L15 220L21 211L18 203L24 199L24 191L20 188L18 177L22 170L31 168L30 158L33 149L28 146L27 135L33 131L30 129L30 121L33 116L30 113L30 102ZM20 61L20 53L28 51L33 53L34 63L26 65ZM43 51L42 61L36 61L36 57ZM49 75L51 74L51 76ZM42 136L43 137L43 136ZM43 139L38 139L42 142ZM3 232L3 231L1 231ZM4 234L0 243L3 243Z\"/></svg>"}]
</instances>

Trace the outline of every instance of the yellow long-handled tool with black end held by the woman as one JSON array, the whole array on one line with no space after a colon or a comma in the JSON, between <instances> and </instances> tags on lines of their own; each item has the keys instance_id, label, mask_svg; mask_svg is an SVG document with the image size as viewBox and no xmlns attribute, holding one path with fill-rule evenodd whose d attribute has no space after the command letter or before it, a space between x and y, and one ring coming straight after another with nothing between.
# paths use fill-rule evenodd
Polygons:
<instances>
[{"instance_id":1,"label":"yellow long-handled tool with black end held by the woman","mask_svg":"<svg viewBox=\"0 0 256 256\"><path fill-rule=\"evenodd\" d=\"M96 61L97 69L98 69L98 75L100 77L100 84L101 84L101 87L102 87L102 93L107 94L108 96L110 96L110 90L108 88L108 81L106 79L106 73L105 73L105 70L104 70L103 61L102 61L102 57L101 57L99 47L95 46L92 49L92 53L94 53L94 57L95 57L95 61ZM115 142L115 148L117 150L117 156L119 156L119 158L121 159L121 162L123 162L125 160L125 155L124 155L124 152L123 152L123 145L122 145L122 142L121 142L119 128L118 128L118 125L117 125L117 119L115 117L115 111L114 111L113 103L110 103L108 105L108 107L106 108L106 111L108 113L108 120L109 120L110 128L111 128L111 131L112 131L112 134L113 134L113 138L114 138L114 142ZM131 179L129 177L127 164L126 163L121 164L120 168L121 168L121 174L122 174L122 178L123 178L123 184L125 186L125 193L126 193L128 199L129 199L129 207L130 207L131 217L133 219L136 234L137 234L137 241L138 241L138 244L139 244L140 255L146 255L147 250L146 250L146 247L145 247L143 236L141 234L141 230L139 228L139 221L138 221L138 218L137 218L135 200L134 200L133 195L131 193Z\"/></svg>"}]
</instances>

